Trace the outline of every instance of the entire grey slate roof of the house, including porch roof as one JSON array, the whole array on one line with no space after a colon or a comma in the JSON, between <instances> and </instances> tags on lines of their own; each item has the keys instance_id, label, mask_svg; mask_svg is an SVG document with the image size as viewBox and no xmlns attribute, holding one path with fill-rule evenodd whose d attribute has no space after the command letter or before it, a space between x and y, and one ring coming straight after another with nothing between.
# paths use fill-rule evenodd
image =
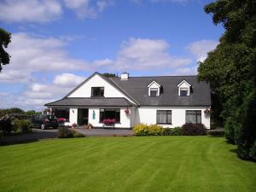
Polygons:
<instances>
[{"instance_id":1,"label":"entire grey slate roof of the house, including porch roof","mask_svg":"<svg viewBox=\"0 0 256 192\"><path fill-rule=\"evenodd\" d=\"M120 90L137 103L138 106L152 106L152 107L209 107L211 106L211 90L210 85L206 82L197 82L197 76L155 76L155 77L129 77L128 80L121 80L120 78L106 78L101 73L94 73L88 79L84 80L74 90L79 89L95 74L99 74L102 79L108 81L113 87ZM178 96L177 84L186 80L192 85L190 96ZM148 84L152 81L161 85L160 96L148 96ZM73 91L74 91L73 90ZM65 107L65 106L84 106L84 107L130 107L133 106L125 98L73 98L70 96L71 91L63 99L45 104L47 107Z\"/></svg>"}]
</instances>

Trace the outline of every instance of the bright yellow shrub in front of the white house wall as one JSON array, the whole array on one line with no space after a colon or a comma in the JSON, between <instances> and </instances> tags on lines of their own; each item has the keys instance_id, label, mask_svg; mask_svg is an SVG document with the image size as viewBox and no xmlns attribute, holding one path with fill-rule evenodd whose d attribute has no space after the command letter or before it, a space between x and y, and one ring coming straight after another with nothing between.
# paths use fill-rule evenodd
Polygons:
<instances>
[{"instance_id":1,"label":"bright yellow shrub in front of the white house wall","mask_svg":"<svg viewBox=\"0 0 256 192\"><path fill-rule=\"evenodd\" d=\"M161 136L163 134L163 127L160 125L135 125L133 131L136 136Z\"/></svg>"}]
</instances>

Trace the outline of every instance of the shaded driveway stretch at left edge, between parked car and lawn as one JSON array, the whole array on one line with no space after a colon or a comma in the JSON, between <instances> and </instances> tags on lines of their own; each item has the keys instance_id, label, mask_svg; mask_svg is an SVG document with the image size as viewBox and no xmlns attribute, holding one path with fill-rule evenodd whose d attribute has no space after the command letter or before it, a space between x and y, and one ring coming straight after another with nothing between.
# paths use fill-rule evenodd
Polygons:
<instances>
[{"instance_id":1,"label":"shaded driveway stretch at left edge, between parked car and lawn","mask_svg":"<svg viewBox=\"0 0 256 192\"><path fill-rule=\"evenodd\" d=\"M0 140L0 144L30 143L41 139L55 138L57 136L57 131L58 130L32 129L31 133L3 137L3 139Z\"/></svg>"}]
</instances>

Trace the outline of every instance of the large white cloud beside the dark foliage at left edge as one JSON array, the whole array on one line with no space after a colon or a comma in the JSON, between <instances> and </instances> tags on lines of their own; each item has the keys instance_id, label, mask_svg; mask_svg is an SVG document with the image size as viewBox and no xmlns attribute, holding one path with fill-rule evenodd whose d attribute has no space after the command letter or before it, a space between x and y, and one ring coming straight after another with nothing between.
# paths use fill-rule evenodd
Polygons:
<instances>
[{"instance_id":1,"label":"large white cloud beside the dark foliage at left edge","mask_svg":"<svg viewBox=\"0 0 256 192\"><path fill-rule=\"evenodd\" d=\"M12 34L9 44L9 65L3 67L0 82L32 81L38 72L88 70L90 64L71 58L65 51L66 42L58 38L35 38L26 33Z\"/></svg>"}]
</instances>

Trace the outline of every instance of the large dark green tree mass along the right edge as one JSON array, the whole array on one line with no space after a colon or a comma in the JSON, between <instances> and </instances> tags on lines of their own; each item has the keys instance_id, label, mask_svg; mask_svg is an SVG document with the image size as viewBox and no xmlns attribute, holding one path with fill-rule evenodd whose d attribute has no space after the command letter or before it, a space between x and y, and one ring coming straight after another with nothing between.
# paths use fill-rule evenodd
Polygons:
<instances>
[{"instance_id":1,"label":"large dark green tree mass along the right edge","mask_svg":"<svg viewBox=\"0 0 256 192\"><path fill-rule=\"evenodd\" d=\"M256 1L217 0L207 4L215 25L224 26L218 47L198 68L211 84L213 110L224 120L225 135L242 159L256 148ZM216 114L216 113L215 113ZM254 145L254 147L253 147Z\"/></svg>"}]
</instances>

